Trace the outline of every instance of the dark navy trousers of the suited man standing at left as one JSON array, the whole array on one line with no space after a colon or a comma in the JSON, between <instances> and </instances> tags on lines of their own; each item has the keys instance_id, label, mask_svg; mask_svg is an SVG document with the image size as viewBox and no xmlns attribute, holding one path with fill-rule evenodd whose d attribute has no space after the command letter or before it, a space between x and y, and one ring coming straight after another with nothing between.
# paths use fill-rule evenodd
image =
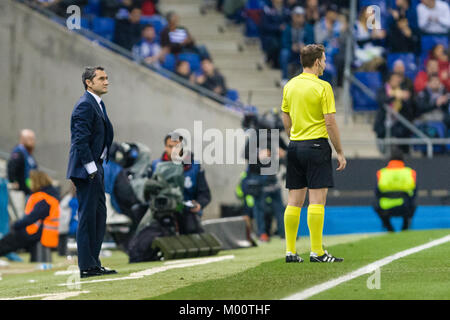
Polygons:
<instances>
[{"instance_id":1,"label":"dark navy trousers of the suited man standing at left","mask_svg":"<svg viewBox=\"0 0 450 320\"><path fill-rule=\"evenodd\" d=\"M76 239L80 270L101 267L99 256L106 231L106 205L103 166L96 165L94 179L72 179L79 204Z\"/></svg>"}]
</instances>

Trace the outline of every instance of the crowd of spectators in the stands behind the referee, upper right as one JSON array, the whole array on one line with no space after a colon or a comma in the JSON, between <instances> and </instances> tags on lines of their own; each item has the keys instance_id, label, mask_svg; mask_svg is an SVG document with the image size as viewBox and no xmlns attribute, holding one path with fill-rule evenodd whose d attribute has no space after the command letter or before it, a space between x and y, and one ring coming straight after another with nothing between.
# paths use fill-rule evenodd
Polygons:
<instances>
[{"instance_id":1,"label":"crowd of spectators in the stands behind the referee, upper right","mask_svg":"<svg viewBox=\"0 0 450 320\"><path fill-rule=\"evenodd\" d=\"M225 10L230 2L241 4L232 14ZM386 137L387 129L391 137L415 136L400 121L388 117L382 106L394 109L432 138L450 137L448 1L358 0L356 21L350 27L349 4L338 0L223 0L218 1L218 9L235 23L241 22L236 16L244 17L245 34L260 39L268 66L281 69L281 86L302 71L299 50L309 43L325 46L323 79L341 86L345 42L352 32L353 73L378 74L381 79L379 88L369 86L377 95L377 137ZM435 36L440 40L424 45L424 38ZM410 148L403 145L402 149ZM446 149L450 145L440 150Z\"/></svg>"}]
</instances>

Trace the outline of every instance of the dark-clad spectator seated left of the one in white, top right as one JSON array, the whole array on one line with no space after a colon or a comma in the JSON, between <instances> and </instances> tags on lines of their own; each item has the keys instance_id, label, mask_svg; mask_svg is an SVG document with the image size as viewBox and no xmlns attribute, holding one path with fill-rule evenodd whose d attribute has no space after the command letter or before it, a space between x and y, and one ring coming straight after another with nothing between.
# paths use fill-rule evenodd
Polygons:
<instances>
[{"instance_id":1,"label":"dark-clad spectator seated left of the one in white, top right","mask_svg":"<svg viewBox=\"0 0 450 320\"><path fill-rule=\"evenodd\" d=\"M405 1L405 0L403 0ZM419 37L411 29L406 17L394 19L389 25L386 46L390 52L416 52Z\"/></svg>"}]
</instances>

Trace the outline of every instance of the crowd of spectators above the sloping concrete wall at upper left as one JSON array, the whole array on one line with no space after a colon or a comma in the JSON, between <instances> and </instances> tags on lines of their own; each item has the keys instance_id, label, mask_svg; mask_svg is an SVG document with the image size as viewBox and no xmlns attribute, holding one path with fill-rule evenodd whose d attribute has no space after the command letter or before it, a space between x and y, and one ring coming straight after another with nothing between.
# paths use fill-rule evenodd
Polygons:
<instances>
[{"instance_id":1,"label":"crowd of spectators above the sloping concrete wall at upper left","mask_svg":"<svg viewBox=\"0 0 450 320\"><path fill-rule=\"evenodd\" d=\"M30 1L59 16L66 16L69 5L77 5L82 8L82 19L90 22L94 32L131 51L138 63L172 71L219 96L228 94L225 78L215 67L206 46L196 43L189 30L180 24L176 12L163 15L158 8L159 0ZM103 21L98 22L96 18ZM112 29L111 36L108 37L107 31L103 33L103 29Z\"/></svg>"}]
</instances>

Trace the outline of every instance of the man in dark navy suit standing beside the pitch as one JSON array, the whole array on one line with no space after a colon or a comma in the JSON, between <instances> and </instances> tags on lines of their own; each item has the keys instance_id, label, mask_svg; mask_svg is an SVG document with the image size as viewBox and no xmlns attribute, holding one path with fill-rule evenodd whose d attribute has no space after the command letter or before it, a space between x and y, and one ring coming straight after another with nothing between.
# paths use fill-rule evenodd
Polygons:
<instances>
[{"instance_id":1,"label":"man in dark navy suit standing beside the pitch","mask_svg":"<svg viewBox=\"0 0 450 320\"><path fill-rule=\"evenodd\" d=\"M108 92L108 75L102 67L87 67L82 75L86 89L75 104L70 121L71 148L67 178L77 189L78 266L81 278L117 273L102 267L100 249L106 230L103 161L108 161L114 137L101 96Z\"/></svg>"}]
</instances>

